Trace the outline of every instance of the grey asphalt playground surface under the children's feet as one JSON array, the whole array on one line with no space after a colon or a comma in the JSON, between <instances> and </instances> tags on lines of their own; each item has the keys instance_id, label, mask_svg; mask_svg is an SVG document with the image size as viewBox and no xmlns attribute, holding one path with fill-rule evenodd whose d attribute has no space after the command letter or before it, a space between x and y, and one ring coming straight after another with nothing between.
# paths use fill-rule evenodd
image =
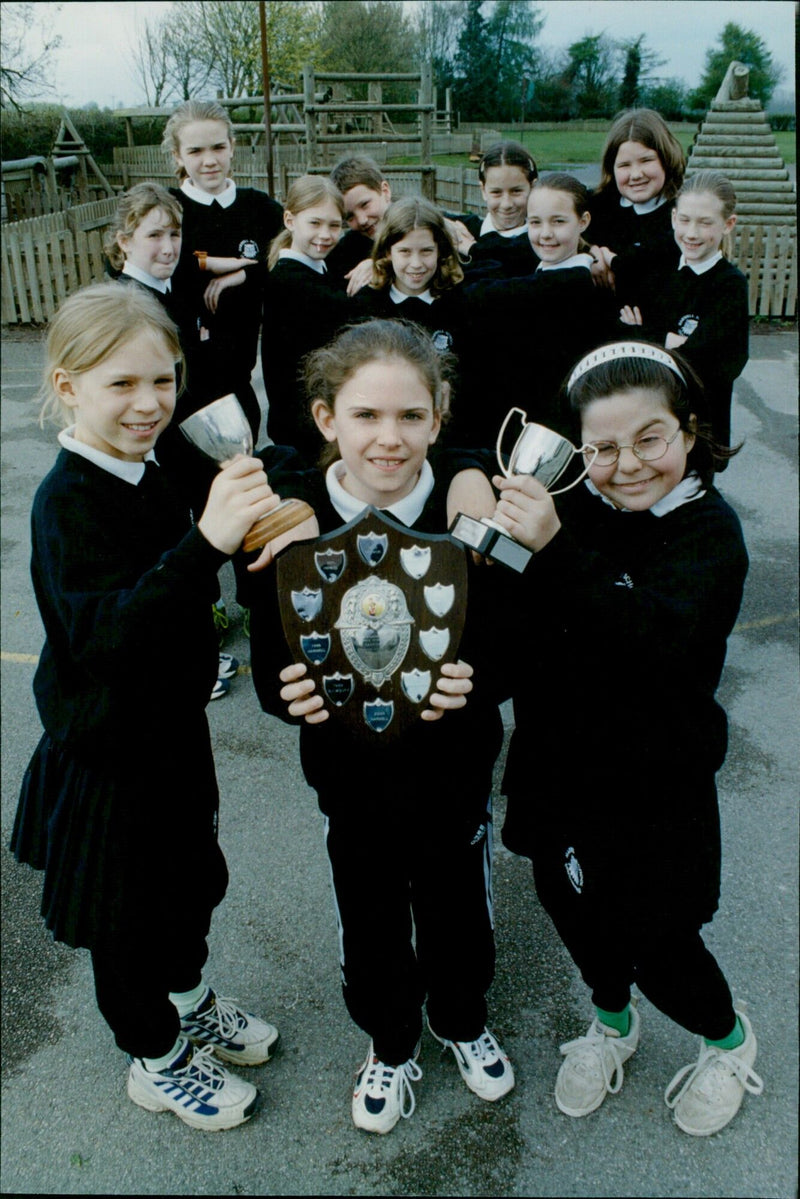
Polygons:
<instances>
[{"instance_id":1,"label":"grey asphalt playground surface under the children's feet","mask_svg":"<svg viewBox=\"0 0 800 1199\"><path fill-rule=\"evenodd\" d=\"M55 945L38 917L41 879L7 845L19 782L38 740L31 680L42 629L28 573L34 492L56 442L36 422L38 335L2 341L2 1140L6 1194L781 1197L798 1177L798 341L754 331L738 381L742 452L720 487L739 512L751 573L729 643L721 699L730 748L720 775L723 886L708 942L747 1005L764 1093L715 1137L686 1137L663 1090L696 1040L646 1000L625 1085L583 1120L553 1101L559 1044L591 1012L577 971L539 906L529 866L495 839L498 969L489 1024L516 1090L482 1103L425 1036L416 1111L387 1137L353 1127L353 1077L366 1037L342 1002L321 821L299 769L296 729L264 716L248 643L233 614L225 647L241 671L210 705L231 881L210 939L206 977L281 1030L276 1058L248 1072L263 1104L247 1125L201 1133L126 1096L126 1065L94 1000L89 954ZM143 661L170 686L169 645ZM625 669L628 682L633 663ZM646 683L646 677L639 680ZM510 713L507 719L510 721ZM146 735L145 735L146 730ZM143 713L138 753L169 730ZM531 775L535 754L531 748ZM357 764L354 764L357 769ZM565 763L569 770L569 763ZM379 781L377 795L379 795ZM626 803L646 802L631 781ZM495 820L503 797L495 788ZM142 863L164 903L191 863L164 846ZM380 863L365 863L365 902ZM679 885L679 881L678 881Z\"/></svg>"}]
</instances>

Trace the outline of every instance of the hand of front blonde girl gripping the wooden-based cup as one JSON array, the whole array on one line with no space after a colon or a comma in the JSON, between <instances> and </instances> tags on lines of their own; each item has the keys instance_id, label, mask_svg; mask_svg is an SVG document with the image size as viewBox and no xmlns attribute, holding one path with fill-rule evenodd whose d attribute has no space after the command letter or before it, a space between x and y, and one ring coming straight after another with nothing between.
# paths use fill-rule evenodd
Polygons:
<instances>
[{"instance_id":1,"label":"hand of front blonde girl gripping the wooden-based cup","mask_svg":"<svg viewBox=\"0 0 800 1199\"><path fill-rule=\"evenodd\" d=\"M259 459L237 454L215 477L197 526L215 549L234 554L245 534L279 502Z\"/></svg>"}]
</instances>

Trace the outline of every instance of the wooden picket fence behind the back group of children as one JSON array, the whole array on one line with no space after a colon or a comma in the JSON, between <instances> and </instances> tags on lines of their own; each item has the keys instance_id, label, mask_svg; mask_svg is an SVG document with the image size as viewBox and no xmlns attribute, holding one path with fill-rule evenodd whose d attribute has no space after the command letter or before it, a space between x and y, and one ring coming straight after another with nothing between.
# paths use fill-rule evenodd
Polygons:
<instances>
[{"instance_id":1,"label":"wooden picket fence behind the back group of children","mask_svg":"<svg viewBox=\"0 0 800 1199\"><path fill-rule=\"evenodd\" d=\"M249 183L239 164L236 175L240 181L247 179ZM151 179L152 175L142 177ZM253 174L252 177L251 186L258 186L255 180L260 182L260 175ZM389 179L396 194L419 193L413 174L398 175L395 180L390 168ZM437 201L451 212L480 212L480 193L473 180L474 171L437 168ZM66 296L103 278L102 237L112 222L115 205L113 199L95 200L66 212L4 225L4 325L43 324ZM796 246L794 227L736 227L732 259L747 276L751 317L796 315Z\"/></svg>"}]
</instances>

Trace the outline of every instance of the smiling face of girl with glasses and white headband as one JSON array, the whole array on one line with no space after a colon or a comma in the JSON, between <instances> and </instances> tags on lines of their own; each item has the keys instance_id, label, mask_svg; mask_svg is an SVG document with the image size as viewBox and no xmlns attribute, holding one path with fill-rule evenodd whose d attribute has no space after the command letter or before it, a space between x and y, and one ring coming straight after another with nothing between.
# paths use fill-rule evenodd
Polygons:
<instances>
[{"instance_id":1,"label":"smiling face of girl with glasses and white headband","mask_svg":"<svg viewBox=\"0 0 800 1199\"><path fill-rule=\"evenodd\" d=\"M612 441L626 448L620 450L612 466L593 466L589 478L615 507L646 512L680 483L694 436L678 433L663 458L655 462L642 462L630 446L644 436L668 440L678 429L678 417L669 410L661 391L634 387L595 399L582 415L581 436L584 444Z\"/></svg>"}]
</instances>

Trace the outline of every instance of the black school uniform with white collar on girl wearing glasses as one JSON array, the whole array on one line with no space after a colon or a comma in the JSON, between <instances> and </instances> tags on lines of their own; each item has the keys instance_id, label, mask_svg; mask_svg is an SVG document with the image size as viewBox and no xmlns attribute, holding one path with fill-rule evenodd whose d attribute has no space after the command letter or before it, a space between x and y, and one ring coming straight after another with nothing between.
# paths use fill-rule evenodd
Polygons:
<instances>
[{"instance_id":1,"label":"black school uniform with white collar on girl wearing glasses","mask_svg":"<svg viewBox=\"0 0 800 1199\"><path fill-rule=\"evenodd\" d=\"M735 1016L700 927L720 896L715 692L747 572L741 528L696 476L640 513L584 484L559 514L519 578L536 635L517 667L541 686L515 695L503 839L531 857L597 1007L622 1011L636 982L718 1040Z\"/></svg>"}]
</instances>

